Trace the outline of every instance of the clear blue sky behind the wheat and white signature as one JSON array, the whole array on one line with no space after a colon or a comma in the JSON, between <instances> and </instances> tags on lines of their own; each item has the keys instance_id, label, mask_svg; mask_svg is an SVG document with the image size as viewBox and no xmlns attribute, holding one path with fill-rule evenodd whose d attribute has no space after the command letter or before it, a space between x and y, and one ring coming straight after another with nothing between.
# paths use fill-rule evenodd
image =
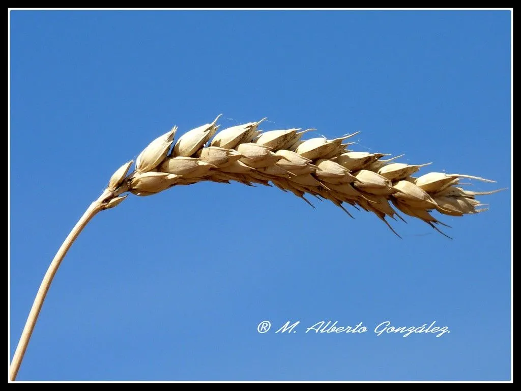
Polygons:
<instances>
[{"instance_id":1,"label":"clear blue sky behind the wheat and white signature","mask_svg":"<svg viewBox=\"0 0 521 391\"><path fill-rule=\"evenodd\" d=\"M360 131L353 150L511 184L510 11L11 11L10 357L69 230L152 139ZM276 188L130 196L85 228L18 380L509 380L511 192L427 224ZM268 320L272 329L257 332ZM320 321L364 334L305 333ZM287 321L297 333L275 334ZM384 321L451 333L377 336Z\"/></svg>"}]
</instances>

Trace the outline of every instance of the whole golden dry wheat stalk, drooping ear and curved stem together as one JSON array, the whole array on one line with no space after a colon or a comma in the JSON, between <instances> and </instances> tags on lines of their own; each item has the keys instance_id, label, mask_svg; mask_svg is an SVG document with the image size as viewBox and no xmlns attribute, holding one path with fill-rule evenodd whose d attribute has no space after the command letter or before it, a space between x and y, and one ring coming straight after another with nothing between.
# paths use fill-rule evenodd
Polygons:
<instances>
[{"instance_id":1,"label":"whole golden dry wheat stalk, drooping ear and curved stem together","mask_svg":"<svg viewBox=\"0 0 521 391\"><path fill-rule=\"evenodd\" d=\"M177 127L173 127L139 154L130 174L133 161L123 164L111 176L107 189L72 229L43 278L11 362L11 381L16 379L61 260L90 219L98 212L121 203L127 197L121 196L123 193L150 196L176 185L202 181L238 181L248 186L271 186L271 182L310 205L305 194L330 200L350 216L344 204L373 212L399 236L386 220L386 217L395 219L395 216L403 220L396 210L419 218L445 235L437 225L446 225L432 216L431 211L450 216L479 213L486 209L475 196L503 190L475 192L457 186L462 178L493 182L470 175L428 173L414 177L413 174L430 163L395 163L395 158L401 156L382 159L386 154L350 151L347 148L354 143L345 140L357 133L333 140L319 137L304 141L303 134L315 129L262 132L258 126L264 118L216 134L219 117L210 124L184 133L172 148L177 131Z\"/></svg>"}]
</instances>

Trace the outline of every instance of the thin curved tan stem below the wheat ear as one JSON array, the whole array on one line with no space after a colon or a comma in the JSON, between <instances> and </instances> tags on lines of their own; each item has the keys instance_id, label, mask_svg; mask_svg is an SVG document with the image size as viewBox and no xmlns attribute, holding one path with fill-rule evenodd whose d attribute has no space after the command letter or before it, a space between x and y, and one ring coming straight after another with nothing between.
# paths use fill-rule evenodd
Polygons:
<instances>
[{"instance_id":1,"label":"thin curved tan stem below the wheat ear","mask_svg":"<svg viewBox=\"0 0 521 391\"><path fill-rule=\"evenodd\" d=\"M98 212L105 209L107 206L107 201L114 198L114 193L111 193L108 190L105 190L103 194L94 201L88 209L83 213L83 216L79 219L78 223L72 228L69 235L62 243L58 252L54 256L51 265L47 269L45 276L43 277L42 284L40 284L40 289L38 289L38 293L34 298L34 302L31 308L31 312L29 312L29 316L27 317L26 325L23 327L23 332L18 341L18 346L15 351L15 356L13 357L13 361L11 362L9 378L11 381L16 380L16 375L18 374L18 370L20 369L20 364L23 360L23 355L26 352L27 345L29 344L29 340L31 339L32 332L34 330L34 325L36 324L36 320L38 320L38 315L40 314L40 310L42 309L43 302L45 300L45 296L47 296L47 291L53 282L54 275L58 271L58 267L60 266L61 261L64 259L65 254L69 250L72 243L76 240L78 235L81 233L83 228L91 221L92 217L94 217Z\"/></svg>"}]
</instances>

